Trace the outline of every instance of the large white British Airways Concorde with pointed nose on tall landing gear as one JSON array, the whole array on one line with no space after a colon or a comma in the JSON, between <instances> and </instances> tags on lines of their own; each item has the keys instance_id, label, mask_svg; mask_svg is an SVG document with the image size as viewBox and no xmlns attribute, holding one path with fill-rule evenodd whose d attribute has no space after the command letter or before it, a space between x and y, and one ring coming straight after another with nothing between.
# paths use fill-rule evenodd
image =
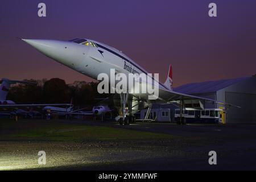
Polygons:
<instances>
[{"instance_id":1,"label":"large white British Airways Concorde with pointed nose on tall landing gear","mask_svg":"<svg viewBox=\"0 0 256 182\"><path fill-rule=\"evenodd\" d=\"M47 57L66 65L86 76L97 79L100 73L106 73L111 76L110 69L114 69L114 75L124 73L141 74L148 72L140 65L135 63L121 51L110 47L104 43L86 38L77 38L69 41L45 40L45 39L22 39L27 44L36 48ZM175 102L186 109L204 109L205 102L216 102L222 105L228 105L223 102L210 100L208 98L196 97L188 94L177 93L172 90L171 67L167 80L164 84L157 81L154 86L159 88L159 95L155 100L149 100L149 94L114 94L114 104L119 108L119 123L127 124L133 118L133 114L145 107L151 108L152 103L167 104ZM154 79L152 77L152 79ZM145 84L140 82L141 85ZM146 82L146 85L149 83ZM150 83L152 84L152 83ZM135 88L136 89L136 88ZM119 105L119 106L118 106ZM181 121L180 121L181 122Z\"/></svg>"}]
</instances>

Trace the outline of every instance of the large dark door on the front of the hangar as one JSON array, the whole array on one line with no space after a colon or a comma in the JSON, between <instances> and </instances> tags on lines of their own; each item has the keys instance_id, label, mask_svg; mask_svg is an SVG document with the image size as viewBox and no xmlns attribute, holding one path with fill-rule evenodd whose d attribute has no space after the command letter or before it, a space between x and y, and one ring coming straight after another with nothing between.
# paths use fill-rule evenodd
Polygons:
<instances>
[{"instance_id":1,"label":"large dark door on the front of the hangar","mask_svg":"<svg viewBox=\"0 0 256 182\"><path fill-rule=\"evenodd\" d=\"M256 94L226 92L226 102L241 106L226 111L226 123L256 123Z\"/></svg>"}]
</instances>

